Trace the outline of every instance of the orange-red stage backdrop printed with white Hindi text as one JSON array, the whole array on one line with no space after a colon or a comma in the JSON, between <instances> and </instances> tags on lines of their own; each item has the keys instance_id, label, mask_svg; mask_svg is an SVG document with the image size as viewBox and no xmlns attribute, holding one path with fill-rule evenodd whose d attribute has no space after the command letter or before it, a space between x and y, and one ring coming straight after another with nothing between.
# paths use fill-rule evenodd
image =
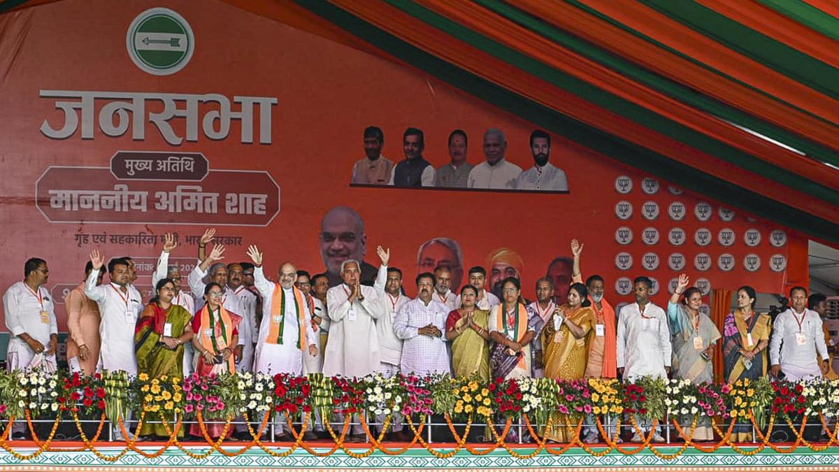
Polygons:
<instances>
[{"instance_id":1,"label":"orange-red stage backdrop printed with white Hindi text","mask_svg":"<svg viewBox=\"0 0 839 472\"><path fill-rule=\"evenodd\" d=\"M167 8L158 13L169 19L149 20L150 8ZM180 71L154 69L179 57ZM482 132L501 128L508 160L524 170L534 127L383 55L226 3L67 0L8 13L0 72L0 286L39 256L59 303L91 249L133 256L148 291L162 235L178 234L173 257L188 270L207 227L227 244L227 262L258 244L269 274L284 260L323 271L320 220L341 205L363 218L365 260L378 265L378 244L392 249L409 295L418 249L436 237L460 244L454 264L464 271L512 249L528 297L576 237L583 275L602 274L612 302L628 302L628 281L647 274L664 286L659 304L680 271L706 294L741 284L780 291L787 248L803 240L559 136L550 159L569 193L350 186L367 125L383 128L394 161L404 158L404 129L421 128L435 166L448 161L452 129L466 130L477 164ZM429 251L451 259L440 246ZM801 262L790 269L800 274ZM570 267L554 269L562 280Z\"/></svg>"}]
</instances>

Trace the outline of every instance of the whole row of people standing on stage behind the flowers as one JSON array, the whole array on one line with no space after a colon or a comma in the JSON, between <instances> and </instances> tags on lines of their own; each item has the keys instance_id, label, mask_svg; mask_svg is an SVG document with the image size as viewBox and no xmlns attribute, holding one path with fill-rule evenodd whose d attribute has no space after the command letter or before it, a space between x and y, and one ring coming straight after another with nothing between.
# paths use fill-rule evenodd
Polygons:
<instances>
[{"instance_id":1,"label":"whole row of people standing on stage behind the flowers","mask_svg":"<svg viewBox=\"0 0 839 472\"><path fill-rule=\"evenodd\" d=\"M701 292L685 274L666 307L649 300L651 281L639 276L634 302L616 313L604 297L603 278L582 278L583 244L576 240L571 241L571 285L540 278L535 301L528 303L515 277L501 281L498 296L487 290L487 271L480 266L468 270L467 283L460 287L451 286L446 265L422 272L413 281L417 296L411 299L404 295L402 271L388 265L390 251L381 246L373 280L362 280L362 261L345 259L341 280L334 283L326 274L310 275L291 262L280 265L277 281L271 281L258 247L242 254L246 262L222 262L225 248L213 244L214 235L208 229L201 237L198 264L187 276L188 286L182 286L180 266L169 264L178 244L166 234L152 276L154 297L145 302L133 285L137 274L130 258L106 260L92 250L85 281L65 297L70 369L86 375L122 370L180 378L192 372L347 377L402 372L482 380L632 381L653 376L701 383L713 379L711 359L722 343L728 382L833 375L828 348L834 343L821 319L826 297L808 297L803 287L790 291L791 306L773 320L754 311L756 293L742 286L736 309L723 326L715 326L701 312ZM45 260L29 259L23 281L3 296L11 333L8 370L56 369L55 300L44 286L49 274ZM565 295L560 304L555 292ZM241 426L236 433L247 434ZM392 427L388 438L412 437L399 416ZM597 441L597 428L586 427L584 433L586 441ZM561 441L566 432L551 434ZM349 440L363 438L354 425ZM710 438L710 426L698 424L694 439ZM637 434L633 440L639 440Z\"/></svg>"}]
</instances>

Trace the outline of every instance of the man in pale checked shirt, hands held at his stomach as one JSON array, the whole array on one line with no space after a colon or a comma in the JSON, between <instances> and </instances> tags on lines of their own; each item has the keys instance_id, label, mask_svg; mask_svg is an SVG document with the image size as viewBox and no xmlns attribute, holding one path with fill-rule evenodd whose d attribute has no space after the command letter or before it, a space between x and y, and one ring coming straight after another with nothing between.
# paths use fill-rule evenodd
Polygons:
<instances>
[{"instance_id":1,"label":"man in pale checked shirt, hands held at his stomach","mask_svg":"<svg viewBox=\"0 0 839 472\"><path fill-rule=\"evenodd\" d=\"M403 374L446 374L451 371L446 338L443 337L450 310L434 300L436 283L430 272L417 275L417 297L399 309L393 323L393 331L403 340L399 364Z\"/></svg>"}]
</instances>

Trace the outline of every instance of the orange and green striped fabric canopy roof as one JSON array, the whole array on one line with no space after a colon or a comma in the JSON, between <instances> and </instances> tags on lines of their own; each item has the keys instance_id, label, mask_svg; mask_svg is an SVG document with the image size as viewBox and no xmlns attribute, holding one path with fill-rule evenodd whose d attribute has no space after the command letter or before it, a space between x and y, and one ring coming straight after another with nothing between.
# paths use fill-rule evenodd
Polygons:
<instances>
[{"instance_id":1,"label":"orange and green striped fabric canopy roof","mask_svg":"<svg viewBox=\"0 0 839 472\"><path fill-rule=\"evenodd\" d=\"M839 245L835 0L226 1Z\"/></svg>"}]
</instances>

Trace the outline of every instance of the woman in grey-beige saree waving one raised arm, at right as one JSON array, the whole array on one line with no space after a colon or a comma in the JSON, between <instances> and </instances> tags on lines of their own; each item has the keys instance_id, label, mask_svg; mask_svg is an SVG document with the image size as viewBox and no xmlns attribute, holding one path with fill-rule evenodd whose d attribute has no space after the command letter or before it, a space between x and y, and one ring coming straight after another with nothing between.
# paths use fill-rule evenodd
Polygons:
<instances>
[{"instance_id":1,"label":"woman in grey-beige saree waving one raised arm, at right","mask_svg":"<svg viewBox=\"0 0 839 472\"><path fill-rule=\"evenodd\" d=\"M702 292L694 286L687 288L689 283L687 274L679 275L676 289L667 302L667 318L673 344L674 378L690 380L698 385L714 380L714 351L721 336L711 318L699 311ZM694 441L711 441L714 438L709 417L696 418L696 431L690 430L692 415L680 417L679 422L685 438Z\"/></svg>"}]
</instances>

